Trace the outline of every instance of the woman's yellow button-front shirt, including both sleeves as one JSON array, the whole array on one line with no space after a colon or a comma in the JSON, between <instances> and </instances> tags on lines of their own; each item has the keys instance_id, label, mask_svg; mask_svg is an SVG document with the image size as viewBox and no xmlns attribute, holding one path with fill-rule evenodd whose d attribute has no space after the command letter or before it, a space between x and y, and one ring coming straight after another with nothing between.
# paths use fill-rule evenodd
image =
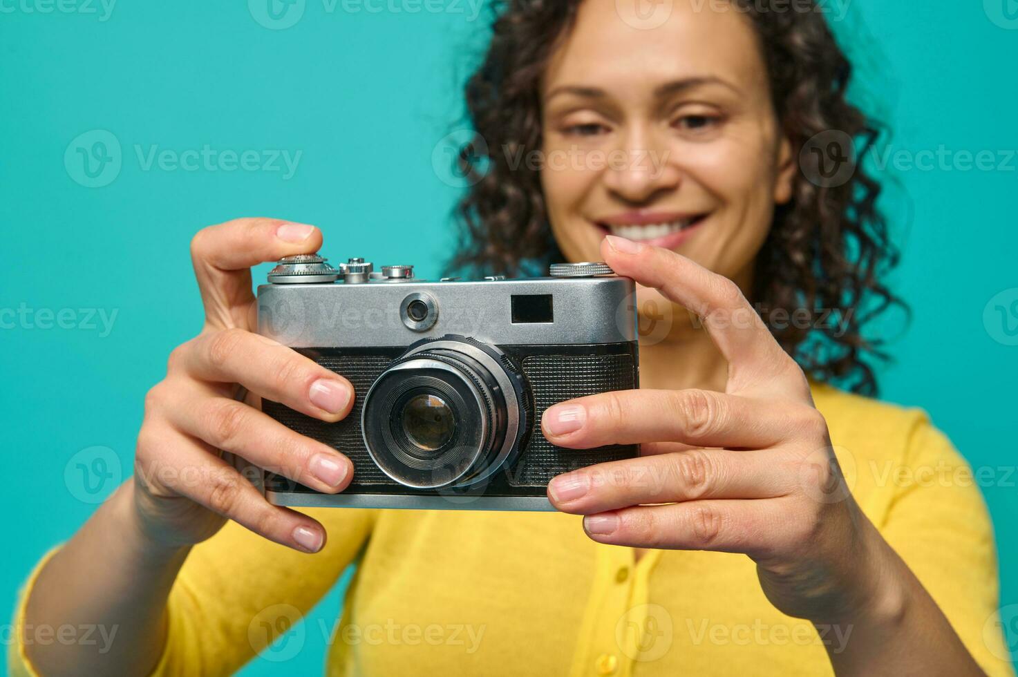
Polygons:
<instances>
[{"instance_id":1,"label":"woman's yellow button-front shirt, including both sleeves","mask_svg":"<svg viewBox=\"0 0 1018 677\"><path fill-rule=\"evenodd\" d=\"M1014 674L995 622L993 530L965 461L922 412L825 386L814 397L862 510L979 665ZM193 549L157 674L226 674L280 633L275 658L299 651L312 630L293 623L360 553L328 675L824 675L822 642L851 641L851 628L822 637L778 612L742 555L634 563L562 513L308 512L329 533L318 555L234 523ZM16 643L10 667L33 674Z\"/></svg>"}]
</instances>

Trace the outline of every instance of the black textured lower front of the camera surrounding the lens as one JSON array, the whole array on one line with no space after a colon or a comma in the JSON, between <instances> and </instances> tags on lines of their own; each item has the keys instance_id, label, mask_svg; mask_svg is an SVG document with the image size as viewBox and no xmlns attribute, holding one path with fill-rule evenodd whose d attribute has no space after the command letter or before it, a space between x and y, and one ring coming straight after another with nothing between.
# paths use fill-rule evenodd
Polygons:
<instances>
[{"instance_id":1,"label":"black textured lower front of the camera surrounding the lens","mask_svg":"<svg viewBox=\"0 0 1018 677\"><path fill-rule=\"evenodd\" d=\"M361 430L364 393L403 353L393 348L300 349L326 369L348 379L357 394L349 415L325 422L276 402L263 408L301 435L322 441L350 458L350 486L339 495L315 492L287 477L267 473L270 500L281 505L357 505L360 507L428 507L478 509L549 509L546 488L552 477L596 463L632 458L635 445L572 450L551 444L541 433L541 416L558 402L638 387L636 344L498 346L522 375L530 410L527 430L512 462L465 488L411 489L390 478L372 459ZM397 500L398 499L398 500ZM538 499L528 501L526 499ZM486 503L489 505L486 506Z\"/></svg>"}]
</instances>

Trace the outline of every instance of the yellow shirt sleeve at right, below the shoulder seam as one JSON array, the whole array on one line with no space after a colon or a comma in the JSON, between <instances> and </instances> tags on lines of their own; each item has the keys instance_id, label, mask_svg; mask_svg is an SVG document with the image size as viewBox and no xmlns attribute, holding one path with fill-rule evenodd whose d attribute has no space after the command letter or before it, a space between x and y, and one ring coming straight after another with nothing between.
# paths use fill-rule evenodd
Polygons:
<instances>
[{"instance_id":1,"label":"yellow shirt sleeve at right, below the shoulder seam","mask_svg":"<svg viewBox=\"0 0 1018 677\"><path fill-rule=\"evenodd\" d=\"M873 470L895 488L884 538L979 666L992 677L1014 675L1000 625L994 530L978 475L925 416L913 428L902 464Z\"/></svg>"}]
</instances>

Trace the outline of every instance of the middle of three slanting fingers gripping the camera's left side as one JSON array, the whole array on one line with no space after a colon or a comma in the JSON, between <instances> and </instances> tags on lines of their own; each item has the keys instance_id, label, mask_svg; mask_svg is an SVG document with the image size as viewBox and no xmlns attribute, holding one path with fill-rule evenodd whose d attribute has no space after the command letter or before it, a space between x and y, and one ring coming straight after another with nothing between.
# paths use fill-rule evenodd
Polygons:
<instances>
[{"instance_id":1,"label":"middle of three slanting fingers gripping the camera's left side","mask_svg":"<svg viewBox=\"0 0 1018 677\"><path fill-rule=\"evenodd\" d=\"M228 397L190 393L174 399L165 409L167 419L215 449L327 494L350 484L353 464L346 456L253 407Z\"/></svg>"}]
</instances>

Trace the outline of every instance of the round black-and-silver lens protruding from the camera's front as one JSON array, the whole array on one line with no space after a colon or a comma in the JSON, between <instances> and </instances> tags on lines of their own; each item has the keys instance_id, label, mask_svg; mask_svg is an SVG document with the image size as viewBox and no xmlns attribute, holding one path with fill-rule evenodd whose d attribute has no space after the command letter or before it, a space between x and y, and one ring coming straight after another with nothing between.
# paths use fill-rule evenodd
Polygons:
<instances>
[{"instance_id":1,"label":"round black-and-silver lens protruding from the camera's front","mask_svg":"<svg viewBox=\"0 0 1018 677\"><path fill-rule=\"evenodd\" d=\"M364 396L361 434L376 465L412 489L479 483L518 453L522 380L492 346L421 341Z\"/></svg>"}]
</instances>

